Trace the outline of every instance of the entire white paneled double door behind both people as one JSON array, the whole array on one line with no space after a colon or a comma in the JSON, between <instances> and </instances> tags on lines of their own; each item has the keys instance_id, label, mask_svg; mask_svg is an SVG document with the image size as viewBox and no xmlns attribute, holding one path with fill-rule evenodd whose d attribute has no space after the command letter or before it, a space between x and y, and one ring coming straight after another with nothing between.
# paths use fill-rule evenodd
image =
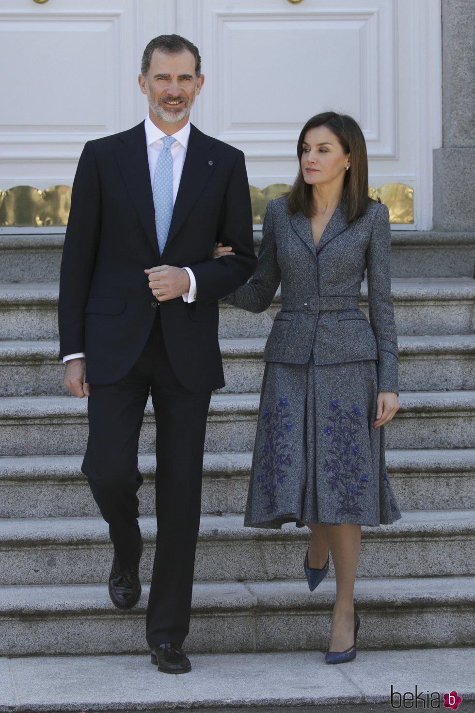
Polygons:
<instances>
[{"instance_id":1,"label":"entire white paneled double door behind both people","mask_svg":"<svg viewBox=\"0 0 475 713\"><path fill-rule=\"evenodd\" d=\"M145 116L140 56L170 32L202 54L192 120L252 185L291 183L301 126L333 108L362 125L370 183L414 188L431 227L440 0L0 0L0 189L71 185L86 140Z\"/></svg>"}]
</instances>

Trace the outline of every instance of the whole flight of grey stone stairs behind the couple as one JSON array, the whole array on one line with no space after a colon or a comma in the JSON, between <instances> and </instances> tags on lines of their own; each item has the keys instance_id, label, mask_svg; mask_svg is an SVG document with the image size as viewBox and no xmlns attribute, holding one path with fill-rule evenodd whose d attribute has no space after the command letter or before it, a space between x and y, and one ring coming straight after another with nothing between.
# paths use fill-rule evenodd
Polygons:
<instances>
[{"instance_id":1,"label":"whole flight of grey stone stairs behind the couple","mask_svg":"<svg viewBox=\"0 0 475 713\"><path fill-rule=\"evenodd\" d=\"M57 362L62 244L62 235L0 235L0 656L68 654L83 665L84 655L147 651L147 585L130 612L108 598L107 525L80 474L86 402L66 394ZM356 601L360 649L409 657L475 641L475 235L393 232L392 244L402 407L387 427L387 466L403 513L391 527L364 528ZM263 347L279 302L257 315L221 308L226 387L209 412L187 650L235 661L325 650L335 590L330 570L308 592L306 531L242 524ZM145 583L154 431L149 406L140 441Z\"/></svg>"}]
</instances>

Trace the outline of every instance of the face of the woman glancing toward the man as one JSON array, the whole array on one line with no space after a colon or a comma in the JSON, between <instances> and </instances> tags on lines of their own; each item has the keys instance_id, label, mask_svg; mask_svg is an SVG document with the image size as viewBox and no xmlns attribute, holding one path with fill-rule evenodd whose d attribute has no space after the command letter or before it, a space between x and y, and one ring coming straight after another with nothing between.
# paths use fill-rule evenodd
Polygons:
<instances>
[{"instance_id":1,"label":"face of the woman glancing toward the man","mask_svg":"<svg viewBox=\"0 0 475 713\"><path fill-rule=\"evenodd\" d=\"M339 183L345 178L350 154L344 153L343 146L333 131L326 126L315 126L307 131L303 139L301 167L303 180L310 185Z\"/></svg>"}]
</instances>

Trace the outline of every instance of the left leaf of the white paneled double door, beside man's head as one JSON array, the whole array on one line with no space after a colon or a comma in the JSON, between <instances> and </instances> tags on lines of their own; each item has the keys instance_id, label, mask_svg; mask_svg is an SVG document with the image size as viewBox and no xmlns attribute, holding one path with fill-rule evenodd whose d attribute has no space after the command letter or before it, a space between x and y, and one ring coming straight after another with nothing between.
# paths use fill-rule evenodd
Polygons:
<instances>
[{"instance_id":1,"label":"left leaf of the white paneled double door, beside man's head","mask_svg":"<svg viewBox=\"0 0 475 713\"><path fill-rule=\"evenodd\" d=\"M0 0L0 188L71 185L85 141L135 123L135 6Z\"/></svg>"}]
</instances>

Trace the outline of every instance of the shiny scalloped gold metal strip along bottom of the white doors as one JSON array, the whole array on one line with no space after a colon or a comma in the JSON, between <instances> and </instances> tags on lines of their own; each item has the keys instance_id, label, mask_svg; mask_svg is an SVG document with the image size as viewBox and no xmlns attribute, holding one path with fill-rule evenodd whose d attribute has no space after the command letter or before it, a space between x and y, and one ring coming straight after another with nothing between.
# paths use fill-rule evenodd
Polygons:
<instances>
[{"instance_id":1,"label":"shiny scalloped gold metal strip along bottom of the white doors","mask_svg":"<svg viewBox=\"0 0 475 713\"><path fill-rule=\"evenodd\" d=\"M267 202L290 188L286 183L273 183L266 188L249 186L254 225L262 223ZM379 188L370 187L369 193L370 198L380 198L387 205L392 223L414 222L414 190L409 185L385 183ZM70 205L71 187L68 185L53 185L46 190L17 185L0 191L0 226L63 226L68 222Z\"/></svg>"}]
</instances>

